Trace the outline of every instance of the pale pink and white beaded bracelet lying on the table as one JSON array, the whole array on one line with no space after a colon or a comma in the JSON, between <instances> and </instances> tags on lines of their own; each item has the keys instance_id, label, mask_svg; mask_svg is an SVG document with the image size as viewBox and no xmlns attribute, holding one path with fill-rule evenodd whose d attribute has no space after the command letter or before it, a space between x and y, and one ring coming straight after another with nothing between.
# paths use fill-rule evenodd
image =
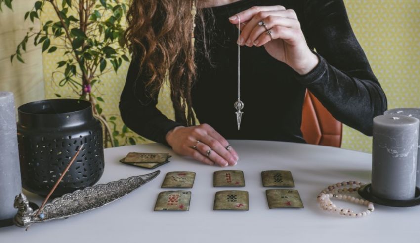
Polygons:
<instances>
[{"instance_id":1,"label":"pale pink and white beaded bracelet lying on the table","mask_svg":"<svg viewBox=\"0 0 420 243\"><path fill-rule=\"evenodd\" d=\"M356 187L352 187L352 186ZM357 182L357 181L348 181L348 182L339 182L334 185L328 186L326 189L321 191L321 193L317 197L317 201L322 209L330 212L338 213L342 216L347 217L364 217L368 216L375 210L374 204L368 200L363 200L356 198L354 196L339 194L339 193L346 193L346 192L357 192L357 190L363 186L364 183ZM347 186L350 186L350 188L347 188ZM349 202L354 202L356 204L365 205L368 206L368 210L361 212L361 213L355 213L351 209L345 209L345 208L339 208L337 207L330 198L335 198L338 200L347 200Z\"/></svg>"}]
</instances>

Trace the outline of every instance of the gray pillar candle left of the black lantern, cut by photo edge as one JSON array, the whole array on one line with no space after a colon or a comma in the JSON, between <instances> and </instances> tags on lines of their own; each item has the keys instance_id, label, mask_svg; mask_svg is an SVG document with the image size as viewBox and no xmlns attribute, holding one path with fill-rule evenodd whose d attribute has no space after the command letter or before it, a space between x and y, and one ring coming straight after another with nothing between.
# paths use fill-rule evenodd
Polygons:
<instances>
[{"instance_id":1,"label":"gray pillar candle left of the black lantern, cut by photo edge","mask_svg":"<svg viewBox=\"0 0 420 243\"><path fill-rule=\"evenodd\" d=\"M14 98L0 92L0 221L16 214L14 198L21 190Z\"/></svg>"}]
</instances>

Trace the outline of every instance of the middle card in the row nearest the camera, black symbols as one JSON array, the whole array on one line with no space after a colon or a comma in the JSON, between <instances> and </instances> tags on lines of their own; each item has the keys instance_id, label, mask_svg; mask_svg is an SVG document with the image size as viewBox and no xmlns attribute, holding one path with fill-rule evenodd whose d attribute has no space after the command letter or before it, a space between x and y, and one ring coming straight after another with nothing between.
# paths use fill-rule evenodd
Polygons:
<instances>
[{"instance_id":1,"label":"middle card in the row nearest the camera, black symbols","mask_svg":"<svg viewBox=\"0 0 420 243\"><path fill-rule=\"evenodd\" d=\"M248 211L247 191L218 191L214 197L214 210Z\"/></svg>"}]
</instances>

